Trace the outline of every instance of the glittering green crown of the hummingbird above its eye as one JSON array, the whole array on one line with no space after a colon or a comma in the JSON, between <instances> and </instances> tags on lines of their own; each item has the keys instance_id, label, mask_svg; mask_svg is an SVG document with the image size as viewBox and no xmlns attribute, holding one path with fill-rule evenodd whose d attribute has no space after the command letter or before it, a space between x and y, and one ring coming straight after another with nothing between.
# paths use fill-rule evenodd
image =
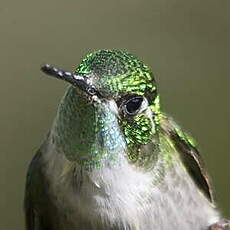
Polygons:
<instances>
[{"instance_id":1,"label":"glittering green crown of the hummingbird above its eye","mask_svg":"<svg viewBox=\"0 0 230 230\"><path fill-rule=\"evenodd\" d=\"M149 67L124 51L91 53L82 60L76 73L91 74L92 84L105 96L145 95L156 90Z\"/></svg>"}]
</instances>

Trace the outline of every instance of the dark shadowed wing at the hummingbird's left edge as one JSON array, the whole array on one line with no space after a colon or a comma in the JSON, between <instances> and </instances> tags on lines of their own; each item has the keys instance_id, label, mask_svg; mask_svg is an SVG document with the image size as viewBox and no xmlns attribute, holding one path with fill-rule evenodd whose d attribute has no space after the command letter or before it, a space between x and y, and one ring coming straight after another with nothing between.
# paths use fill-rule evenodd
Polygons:
<instances>
[{"instance_id":1,"label":"dark shadowed wing at the hummingbird's left edge","mask_svg":"<svg viewBox=\"0 0 230 230\"><path fill-rule=\"evenodd\" d=\"M26 177L24 211L25 224L27 230L52 229L46 215L51 211L52 202L50 200L49 183L44 173L43 154L46 151L44 143L31 160ZM52 212L50 212L52 213Z\"/></svg>"}]
</instances>

